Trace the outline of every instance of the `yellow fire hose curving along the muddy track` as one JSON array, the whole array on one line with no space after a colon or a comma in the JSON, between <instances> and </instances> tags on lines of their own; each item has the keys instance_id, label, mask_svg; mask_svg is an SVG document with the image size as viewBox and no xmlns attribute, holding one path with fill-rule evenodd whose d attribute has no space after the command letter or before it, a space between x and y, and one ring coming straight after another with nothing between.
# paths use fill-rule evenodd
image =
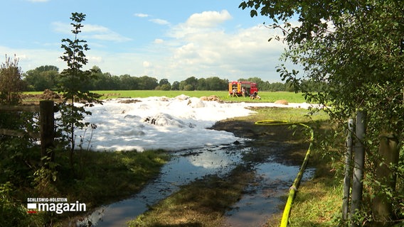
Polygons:
<instances>
[{"instance_id":1,"label":"yellow fire hose curving along the muddy track","mask_svg":"<svg viewBox=\"0 0 404 227\"><path fill-rule=\"evenodd\" d=\"M289 220L290 210L292 209L292 202L294 199L294 194L297 191L297 188L299 187L300 181L302 180L303 172L306 169L307 161L309 160L310 150L312 150L313 140L314 140L314 131L312 128L310 128L310 126L307 126L304 123L298 123L298 122L265 120L265 121L257 121L257 122L255 122L255 124L265 125L265 126L280 126L280 125L297 124L297 125L310 129L310 133L311 133L310 145L309 145L309 148L307 149L306 156L304 157L302 167L300 167L299 173L297 174L296 178L294 179L292 187L289 188L289 196L287 197L285 209L282 214L282 221L280 223L280 227L286 227L288 220Z\"/></svg>"}]
</instances>

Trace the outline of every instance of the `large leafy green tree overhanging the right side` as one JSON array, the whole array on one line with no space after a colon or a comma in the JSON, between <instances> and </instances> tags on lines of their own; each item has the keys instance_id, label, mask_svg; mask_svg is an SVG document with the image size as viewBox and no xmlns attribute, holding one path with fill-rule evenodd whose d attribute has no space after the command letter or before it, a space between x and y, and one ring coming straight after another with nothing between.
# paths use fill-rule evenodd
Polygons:
<instances>
[{"instance_id":1,"label":"large leafy green tree overhanging the right side","mask_svg":"<svg viewBox=\"0 0 404 227\"><path fill-rule=\"evenodd\" d=\"M329 114L339 121L367 112L363 143L373 218L403 218L403 1L249 0L240 7L268 16L268 27L281 31L270 39L287 43L284 59L301 65L303 73L285 65L278 72L309 101L331 104ZM328 88L311 93L301 86L304 79L327 82Z\"/></svg>"}]
</instances>

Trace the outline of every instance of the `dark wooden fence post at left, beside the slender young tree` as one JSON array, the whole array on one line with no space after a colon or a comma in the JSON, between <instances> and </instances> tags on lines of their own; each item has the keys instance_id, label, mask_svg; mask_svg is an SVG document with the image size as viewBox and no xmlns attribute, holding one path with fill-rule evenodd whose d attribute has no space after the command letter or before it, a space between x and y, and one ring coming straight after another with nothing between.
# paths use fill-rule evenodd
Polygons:
<instances>
[{"instance_id":1,"label":"dark wooden fence post at left, beside the slender young tree","mask_svg":"<svg viewBox=\"0 0 404 227\"><path fill-rule=\"evenodd\" d=\"M43 100L39 102L39 122L41 128L41 155L50 156L50 161L55 160L53 153L53 142L55 138L55 117L54 102L52 100Z\"/></svg>"}]
</instances>

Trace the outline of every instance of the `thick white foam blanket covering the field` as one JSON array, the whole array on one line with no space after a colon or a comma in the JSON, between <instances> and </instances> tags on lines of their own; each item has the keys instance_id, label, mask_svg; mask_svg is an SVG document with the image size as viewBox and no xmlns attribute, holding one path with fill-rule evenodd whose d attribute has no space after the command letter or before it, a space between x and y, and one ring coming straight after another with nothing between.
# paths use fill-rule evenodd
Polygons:
<instances>
[{"instance_id":1,"label":"thick white foam blanket covering the field","mask_svg":"<svg viewBox=\"0 0 404 227\"><path fill-rule=\"evenodd\" d=\"M220 103L202 101L185 95L175 98L148 97L112 99L103 105L88 108L91 116L85 121L97 126L94 131L77 131L76 143L92 150L183 150L207 145L233 143L243 139L233 133L210 128L216 121L247 116L253 111L247 106L282 106L308 108L309 104ZM90 134L92 137L90 140ZM84 134L85 132L85 134ZM84 136L83 136L84 135Z\"/></svg>"}]
</instances>

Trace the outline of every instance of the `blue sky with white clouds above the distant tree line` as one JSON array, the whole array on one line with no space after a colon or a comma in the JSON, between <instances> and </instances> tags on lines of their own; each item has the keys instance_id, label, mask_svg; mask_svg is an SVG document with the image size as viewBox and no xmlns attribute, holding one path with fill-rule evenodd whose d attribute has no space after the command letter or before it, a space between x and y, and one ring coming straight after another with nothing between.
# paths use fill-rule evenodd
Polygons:
<instances>
[{"instance_id":1,"label":"blue sky with white clouds above the distant tree line","mask_svg":"<svg viewBox=\"0 0 404 227\"><path fill-rule=\"evenodd\" d=\"M23 72L60 60L63 38L73 38L70 16L85 13L87 67L113 75L280 81L275 67L285 45L267 42L268 18L250 17L233 0L1 0L0 56L19 58ZM4 62L4 60L1 60Z\"/></svg>"}]
</instances>

